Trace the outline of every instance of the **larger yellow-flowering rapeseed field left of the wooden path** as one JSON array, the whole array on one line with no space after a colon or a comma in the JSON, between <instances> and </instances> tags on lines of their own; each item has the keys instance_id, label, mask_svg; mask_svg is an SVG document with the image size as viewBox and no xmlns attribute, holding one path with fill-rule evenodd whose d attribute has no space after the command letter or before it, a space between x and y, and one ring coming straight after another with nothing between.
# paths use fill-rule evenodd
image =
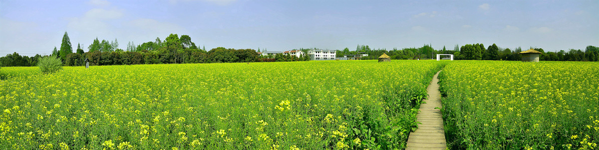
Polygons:
<instances>
[{"instance_id":1,"label":"larger yellow-flowering rapeseed field left of the wooden path","mask_svg":"<svg viewBox=\"0 0 599 150\"><path fill-rule=\"evenodd\" d=\"M2 67L0 149L401 149L446 62Z\"/></svg>"}]
</instances>

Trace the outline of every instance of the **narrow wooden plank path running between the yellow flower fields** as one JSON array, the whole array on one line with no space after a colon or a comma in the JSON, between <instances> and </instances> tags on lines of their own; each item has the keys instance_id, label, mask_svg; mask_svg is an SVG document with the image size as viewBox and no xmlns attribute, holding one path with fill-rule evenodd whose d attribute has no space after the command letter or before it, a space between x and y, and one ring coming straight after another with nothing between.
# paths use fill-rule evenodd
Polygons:
<instances>
[{"instance_id":1,"label":"narrow wooden plank path running between the yellow flower fields","mask_svg":"<svg viewBox=\"0 0 599 150\"><path fill-rule=\"evenodd\" d=\"M411 132L408 137L406 149L446 149L445 131L443 130L443 117L441 110L441 92L439 92L438 71L432 77L431 85L426 87L428 98L424 100L425 104L420 105L420 112L416 115L417 121L422 123L418 125L415 132Z\"/></svg>"}]
</instances>

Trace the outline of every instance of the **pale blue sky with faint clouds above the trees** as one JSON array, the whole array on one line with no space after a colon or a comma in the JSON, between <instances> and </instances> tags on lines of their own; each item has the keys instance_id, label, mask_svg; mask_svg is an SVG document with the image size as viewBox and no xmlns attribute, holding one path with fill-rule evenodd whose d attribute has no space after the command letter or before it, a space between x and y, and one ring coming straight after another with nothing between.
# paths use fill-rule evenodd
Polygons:
<instances>
[{"instance_id":1,"label":"pale blue sky with faint clouds above the trees","mask_svg":"<svg viewBox=\"0 0 599 150\"><path fill-rule=\"evenodd\" d=\"M0 56L52 54L68 33L73 51L93 39L139 45L171 33L216 47L288 51L599 46L599 1L0 0Z\"/></svg>"}]
</instances>

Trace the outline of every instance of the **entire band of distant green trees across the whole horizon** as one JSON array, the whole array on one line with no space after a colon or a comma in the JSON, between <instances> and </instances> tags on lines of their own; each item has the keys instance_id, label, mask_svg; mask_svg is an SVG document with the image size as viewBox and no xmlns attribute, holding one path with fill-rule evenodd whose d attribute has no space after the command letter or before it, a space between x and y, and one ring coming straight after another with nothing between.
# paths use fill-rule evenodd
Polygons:
<instances>
[{"instance_id":1,"label":"entire band of distant green trees across the whole horizon","mask_svg":"<svg viewBox=\"0 0 599 150\"><path fill-rule=\"evenodd\" d=\"M135 45L129 42L126 49L119 49L119 43L114 41L93 39L91 45L87 47L87 52L83 51L80 44L77 44L75 52L72 51L72 45L68 34L62 38L60 49L56 47L51 56L62 60L66 66L84 65L87 58L90 65L131 65L131 64L183 64L183 63L211 63L211 62L273 62L273 61L308 61L309 57L295 57L290 55L276 55L276 57L261 56L254 49L227 49L213 48L206 51L205 47L199 48L191 42L187 35L178 36L169 35L165 40L156 38L155 41ZM317 49L317 48L310 48ZM310 49L293 49L307 52ZM568 51L545 52L542 48L531 48L542 52L540 61L599 61L599 48L596 46L586 46L584 51L580 49L569 49ZM527 50L527 49L525 49ZM500 48L493 44L485 48L482 43L467 44L463 46L455 45L453 50L443 49L435 50L430 45L423 45L420 48L394 48L371 49L368 45L358 45L354 51L349 48L337 50L337 57L343 55L355 55L358 52L368 54L361 60L376 60L380 55L386 53L393 60L410 59L435 59L436 54L453 54L455 60L503 60L519 61L522 48ZM38 59L43 57L40 54L34 57L21 56L17 52L0 57L1 67L11 66L35 66Z\"/></svg>"}]
</instances>

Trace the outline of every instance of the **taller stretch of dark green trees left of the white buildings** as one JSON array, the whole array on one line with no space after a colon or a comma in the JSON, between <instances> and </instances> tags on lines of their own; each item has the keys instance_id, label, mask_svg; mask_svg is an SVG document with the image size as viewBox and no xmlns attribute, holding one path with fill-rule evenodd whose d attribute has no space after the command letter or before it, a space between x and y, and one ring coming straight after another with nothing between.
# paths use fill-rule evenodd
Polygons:
<instances>
[{"instance_id":1,"label":"taller stretch of dark green trees left of the white buildings","mask_svg":"<svg viewBox=\"0 0 599 150\"><path fill-rule=\"evenodd\" d=\"M90 65L133 65L133 64L181 64L181 63L212 63L212 62L268 62L268 61L308 61L308 57L297 58L283 55L273 59L261 57L254 49L213 48L206 51L199 49L187 35L169 35L165 40L156 38L155 42L145 42L135 46L129 42L125 51L118 48L114 41L94 39L84 52L77 44L76 52L72 52L68 33L62 39L60 49L54 48L51 56L60 58L63 65L84 65L87 58ZM277 55L278 56L278 55ZM0 57L0 66L35 66L37 60L43 57L20 56L17 52Z\"/></svg>"}]
</instances>

